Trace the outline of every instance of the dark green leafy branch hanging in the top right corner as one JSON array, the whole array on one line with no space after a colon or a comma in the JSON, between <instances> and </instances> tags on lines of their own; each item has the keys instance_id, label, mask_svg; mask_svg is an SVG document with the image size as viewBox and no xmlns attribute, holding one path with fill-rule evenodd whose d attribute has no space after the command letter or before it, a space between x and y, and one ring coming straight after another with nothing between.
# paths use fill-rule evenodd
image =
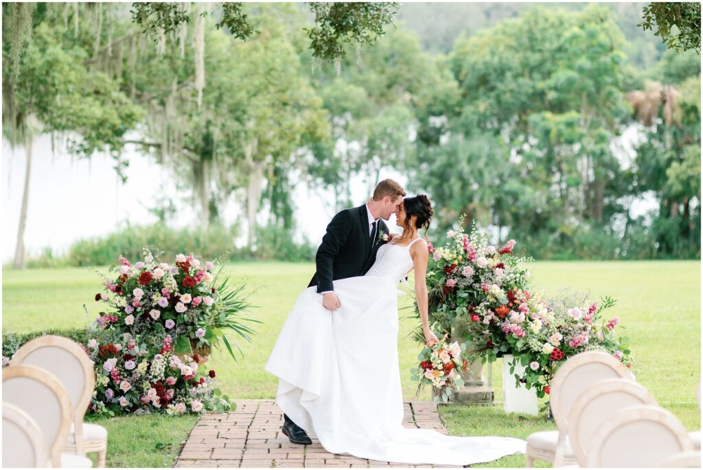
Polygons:
<instances>
[{"instance_id":1,"label":"dark green leafy branch hanging in the top right corner","mask_svg":"<svg viewBox=\"0 0 703 470\"><path fill-rule=\"evenodd\" d=\"M638 26L644 30L656 27L654 36L676 52L693 49L701 53L700 2L652 2L643 9L643 21Z\"/></svg>"}]
</instances>

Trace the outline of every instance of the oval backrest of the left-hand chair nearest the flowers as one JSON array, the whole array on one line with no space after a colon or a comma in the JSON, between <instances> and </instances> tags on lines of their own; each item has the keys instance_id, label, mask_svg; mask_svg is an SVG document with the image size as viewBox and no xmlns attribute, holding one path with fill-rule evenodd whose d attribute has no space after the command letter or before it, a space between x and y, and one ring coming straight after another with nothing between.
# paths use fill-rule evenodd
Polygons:
<instances>
[{"instance_id":1,"label":"oval backrest of the left-hand chair nearest the flowers","mask_svg":"<svg viewBox=\"0 0 703 470\"><path fill-rule=\"evenodd\" d=\"M18 349L11 365L31 365L51 373L68 392L74 424L83 422L95 389L95 371L93 361L81 346L60 336L34 338Z\"/></svg>"}]
</instances>

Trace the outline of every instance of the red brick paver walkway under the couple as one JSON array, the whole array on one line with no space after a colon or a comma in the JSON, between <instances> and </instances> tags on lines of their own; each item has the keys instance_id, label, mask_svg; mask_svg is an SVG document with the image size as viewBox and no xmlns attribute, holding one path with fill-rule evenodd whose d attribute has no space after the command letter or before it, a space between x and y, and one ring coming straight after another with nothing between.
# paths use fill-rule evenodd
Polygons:
<instances>
[{"instance_id":1,"label":"red brick paver walkway under the couple","mask_svg":"<svg viewBox=\"0 0 703 470\"><path fill-rule=\"evenodd\" d=\"M448 433L432 402L406 402L404 410L404 426ZM237 400L236 411L204 414L198 420L176 467L432 466L330 454L314 436L311 445L295 445L280 432L282 425L283 412L273 400Z\"/></svg>"}]
</instances>

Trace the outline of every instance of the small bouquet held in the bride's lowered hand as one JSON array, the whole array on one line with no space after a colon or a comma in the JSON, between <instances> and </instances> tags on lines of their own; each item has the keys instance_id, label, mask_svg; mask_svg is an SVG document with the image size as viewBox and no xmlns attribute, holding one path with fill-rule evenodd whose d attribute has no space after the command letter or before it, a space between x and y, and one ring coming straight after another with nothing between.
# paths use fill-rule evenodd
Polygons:
<instances>
[{"instance_id":1,"label":"small bouquet held in the bride's lowered hand","mask_svg":"<svg viewBox=\"0 0 703 470\"><path fill-rule=\"evenodd\" d=\"M449 401L453 391L458 391L464 385L464 381L457 368L466 372L469 365L463 357L466 343L459 344L454 341L446 342L448 335L431 347L424 348L418 355L420 364L411 370L413 380L419 381L418 393L425 385L432 385L434 389L434 403L439 403L439 397L444 403Z\"/></svg>"}]
</instances>

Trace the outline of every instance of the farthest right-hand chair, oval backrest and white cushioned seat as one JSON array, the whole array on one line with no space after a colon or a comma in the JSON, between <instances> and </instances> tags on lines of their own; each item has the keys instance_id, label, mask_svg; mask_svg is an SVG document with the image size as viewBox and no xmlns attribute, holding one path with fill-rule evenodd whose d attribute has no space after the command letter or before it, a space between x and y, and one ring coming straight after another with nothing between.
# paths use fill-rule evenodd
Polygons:
<instances>
[{"instance_id":1,"label":"farthest right-hand chair, oval backrest and white cushioned seat","mask_svg":"<svg viewBox=\"0 0 703 470\"><path fill-rule=\"evenodd\" d=\"M607 379L633 378L619 360L602 351L576 354L559 367L550 383L549 400L557 431L539 431L528 436L526 466L534 466L535 460L552 462L553 466L576 464L567 438L569 414L581 393Z\"/></svg>"}]
</instances>

